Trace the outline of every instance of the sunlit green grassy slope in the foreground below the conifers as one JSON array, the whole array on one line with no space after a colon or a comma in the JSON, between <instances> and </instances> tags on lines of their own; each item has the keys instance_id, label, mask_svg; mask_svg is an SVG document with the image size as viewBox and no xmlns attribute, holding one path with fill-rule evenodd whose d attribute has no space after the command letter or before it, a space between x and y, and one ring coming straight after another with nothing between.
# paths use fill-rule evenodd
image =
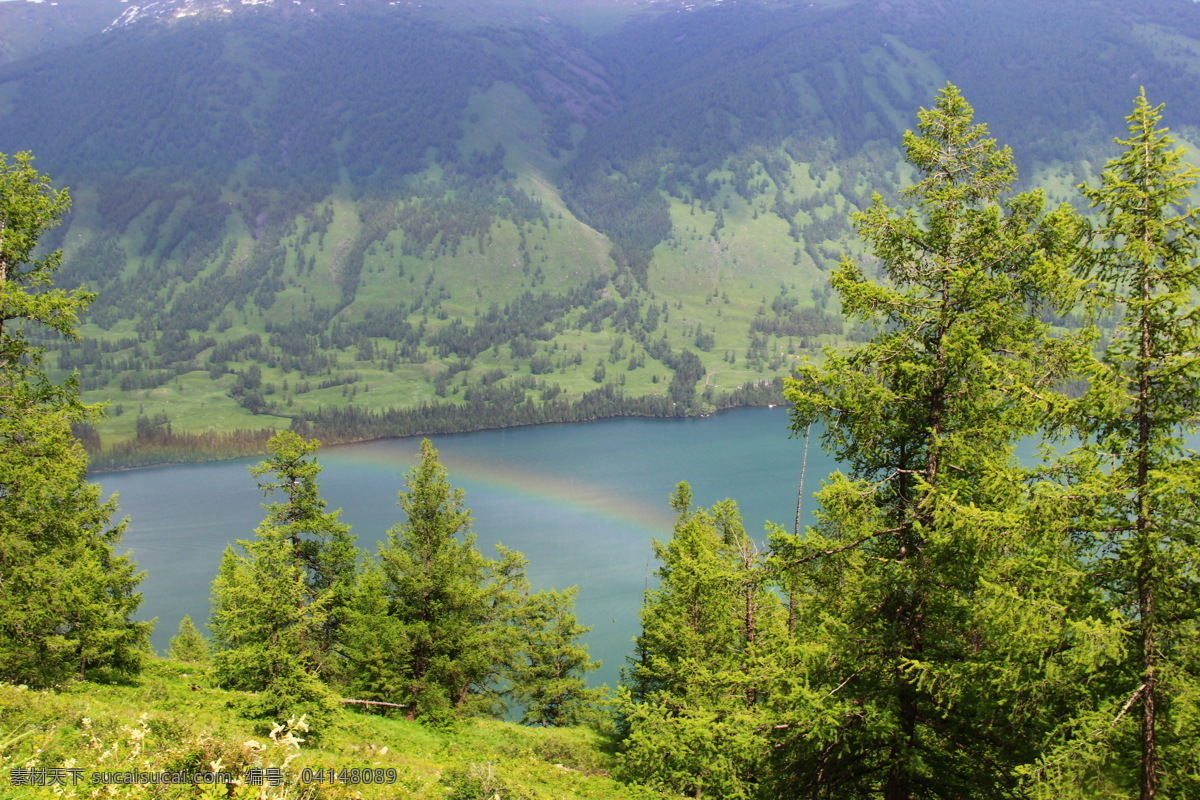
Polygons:
<instances>
[{"instance_id":1,"label":"sunlit green grassy slope in the foreground below the conifers","mask_svg":"<svg viewBox=\"0 0 1200 800\"><path fill-rule=\"evenodd\" d=\"M239 692L215 687L203 666L155 660L127 684L78 682L59 691L0 684L0 796L91 794L94 771L208 771L214 762L241 772L282 766L287 784L270 790L220 787L220 798L372 798L490 800L650 799L661 795L608 777L613 742L583 728L527 728L468 718L448 728L343 711L328 729L289 746L270 727L238 714ZM346 706L349 708L349 706ZM82 769L62 794L10 784L13 768ZM395 770L395 782L302 783L305 769ZM312 774L310 774L311 776ZM328 772L326 772L328 775ZM384 774L386 776L386 774ZM194 798L192 789L121 787L121 798ZM259 792L263 792L259 794Z\"/></svg>"}]
</instances>

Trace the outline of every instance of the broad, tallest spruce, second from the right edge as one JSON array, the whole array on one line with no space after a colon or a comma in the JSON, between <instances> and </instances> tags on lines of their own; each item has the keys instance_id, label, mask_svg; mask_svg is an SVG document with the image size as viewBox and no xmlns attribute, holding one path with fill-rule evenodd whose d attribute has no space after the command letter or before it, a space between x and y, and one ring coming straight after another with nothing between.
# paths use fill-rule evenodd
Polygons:
<instances>
[{"instance_id":1,"label":"broad, tallest spruce, second from the right edge","mask_svg":"<svg viewBox=\"0 0 1200 800\"><path fill-rule=\"evenodd\" d=\"M786 390L793 431L822 422L847 474L816 529L772 537L794 609L776 795L1009 796L1058 710L1038 664L1064 646L1054 593L1080 570L1027 512L1013 446L1078 359L1039 314L1076 297L1080 225L1039 193L1003 199L1012 155L954 86L918 121L905 206L876 196L854 216L882 279L850 259L833 276L876 335Z\"/></svg>"}]
</instances>

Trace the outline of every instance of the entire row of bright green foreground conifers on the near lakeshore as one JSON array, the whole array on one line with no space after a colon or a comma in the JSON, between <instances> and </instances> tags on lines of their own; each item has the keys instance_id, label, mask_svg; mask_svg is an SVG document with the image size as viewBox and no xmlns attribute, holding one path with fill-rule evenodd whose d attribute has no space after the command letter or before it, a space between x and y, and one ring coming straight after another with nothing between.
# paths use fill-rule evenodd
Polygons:
<instances>
[{"instance_id":1,"label":"entire row of bright green foreground conifers on the near lakeshore","mask_svg":"<svg viewBox=\"0 0 1200 800\"><path fill-rule=\"evenodd\" d=\"M792 433L821 423L841 464L817 524L760 542L731 500L695 507L678 486L608 702L620 780L737 800L1200 793L1198 173L1145 92L1127 121L1082 216L1012 192L1012 151L955 86L918 114L914 182L853 216L868 257L832 275L859 341L782 389ZM95 410L25 335L71 335L89 300L44 285L58 253L31 260L67 200L29 162L0 162L0 209L26 234L0 240L2 319L26 320L0 327L0 670L128 678L146 657L138 576L70 428ZM683 397L703 369L672 353ZM266 720L328 724L350 699L431 723L506 700L527 723L598 720L572 594L533 594L518 553L474 548L432 445L361 557L320 499L318 425L336 414L268 441L253 473L276 501L222 559L211 650L188 620L173 654L210 658ZM1055 446L1022 464L1036 438Z\"/></svg>"}]
</instances>

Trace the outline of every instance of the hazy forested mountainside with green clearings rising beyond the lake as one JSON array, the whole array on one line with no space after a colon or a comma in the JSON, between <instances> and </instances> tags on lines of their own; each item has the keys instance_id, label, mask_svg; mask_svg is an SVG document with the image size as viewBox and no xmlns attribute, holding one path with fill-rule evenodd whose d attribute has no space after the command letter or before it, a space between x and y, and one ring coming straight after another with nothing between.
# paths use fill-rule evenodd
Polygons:
<instances>
[{"instance_id":1,"label":"hazy forested mountainside with green clearings rising beyond the lake","mask_svg":"<svg viewBox=\"0 0 1200 800\"><path fill-rule=\"evenodd\" d=\"M1139 86L1200 140L1184 0L62 0L0 30L0 152L72 187L46 243L98 293L44 343L114 403L100 464L774 402L866 333L827 273L946 82L1063 199Z\"/></svg>"}]
</instances>

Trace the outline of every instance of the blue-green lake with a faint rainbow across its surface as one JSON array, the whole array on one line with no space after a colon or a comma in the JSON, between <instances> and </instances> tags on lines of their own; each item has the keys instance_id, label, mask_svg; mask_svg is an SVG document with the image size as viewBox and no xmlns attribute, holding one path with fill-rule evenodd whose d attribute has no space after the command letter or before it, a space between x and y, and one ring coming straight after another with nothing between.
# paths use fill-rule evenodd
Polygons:
<instances>
[{"instance_id":1,"label":"blue-green lake with a faint rainbow across its surface","mask_svg":"<svg viewBox=\"0 0 1200 800\"><path fill-rule=\"evenodd\" d=\"M691 485L696 505L732 498L746 530L766 521L791 528L804 440L790 439L787 411L738 409L707 419L618 419L430 437L467 493L480 551L502 542L529 559L536 589L578 585L576 612L604 667L593 684L616 685L638 632L642 593L655 569L650 540L671 536L668 497ZM322 450L322 495L342 509L359 546L373 552L398 522L397 492L416 463L419 439ZM161 651L179 620L209 615L209 585L224 547L253 536L264 497L247 467L259 458L96 476L119 493L130 527L122 548L145 571L142 619L158 618ZM805 483L833 470L814 437ZM811 521L814 504L805 501Z\"/></svg>"}]
</instances>

